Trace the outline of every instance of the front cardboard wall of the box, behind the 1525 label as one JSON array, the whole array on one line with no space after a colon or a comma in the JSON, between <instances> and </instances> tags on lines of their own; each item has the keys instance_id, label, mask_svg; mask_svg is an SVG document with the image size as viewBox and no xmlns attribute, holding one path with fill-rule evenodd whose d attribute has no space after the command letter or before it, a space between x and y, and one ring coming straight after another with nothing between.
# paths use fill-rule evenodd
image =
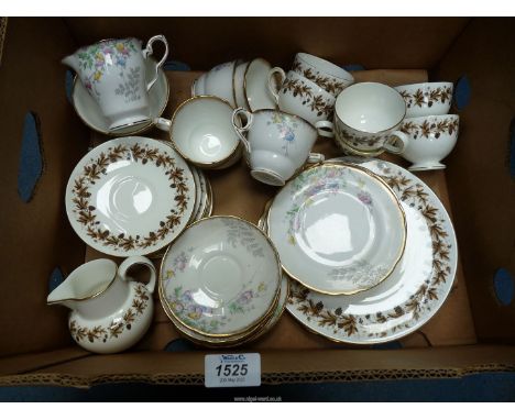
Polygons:
<instances>
[{"instance_id":1,"label":"front cardboard wall of the box, behind the 1525 label","mask_svg":"<svg viewBox=\"0 0 515 420\"><path fill-rule=\"evenodd\" d=\"M3 376L0 385L89 387L120 382L204 385L204 358L213 353L96 355L26 375ZM263 351L261 363L262 384L457 378L480 372L514 372L515 353L511 346L483 345L384 351Z\"/></svg>"}]
</instances>

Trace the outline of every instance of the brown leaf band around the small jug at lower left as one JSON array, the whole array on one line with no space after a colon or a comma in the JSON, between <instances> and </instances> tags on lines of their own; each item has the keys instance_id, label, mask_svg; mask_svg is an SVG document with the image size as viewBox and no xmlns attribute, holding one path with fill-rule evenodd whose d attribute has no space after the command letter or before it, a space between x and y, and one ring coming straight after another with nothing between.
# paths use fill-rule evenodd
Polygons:
<instances>
[{"instance_id":1,"label":"brown leaf band around the small jug at lower left","mask_svg":"<svg viewBox=\"0 0 515 420\"><path fill-rule=\"evenodd\" d=\"M89 341L95 343L101 341L107 343L111 339L118 339L124 331L130 331L133 323L141 317L149 306L147 290L143 285L134 287L135 298L121 318L114 318L108 325L98 324L92 328L80 325L76 320L70 320L69 332L77 343Z\"/></svg>"}]
</instances>

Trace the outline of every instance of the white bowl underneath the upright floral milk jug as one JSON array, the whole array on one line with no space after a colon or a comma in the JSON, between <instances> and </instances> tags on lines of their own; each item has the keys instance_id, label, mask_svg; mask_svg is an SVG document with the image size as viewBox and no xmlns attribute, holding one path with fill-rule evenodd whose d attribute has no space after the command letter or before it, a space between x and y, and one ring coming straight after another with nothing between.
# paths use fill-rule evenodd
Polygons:
<instances>
[{"instance_id":1,"label":"white bowl underneath the upright floral milk jug","mask_svg":"<svg viewBox=\"0 0 515 420\"><path fill-rule=\"evenodd\" d=\"M145 58L144 63L146 82L150 82L152 80L152 71L155 69L156 63L152 57ZM168 102L168 79L162 68L157 70L157 80L149 90L149 109L152 120L162 115L166 108L166 103ZM88 90L77 78L74 79L72 103L83 122L90 129L102 134L132 135L146 131L153 126L151 121L146 121L142 124L134 124L117 130L116 132L110 132L109 120L103 117L97 101L88 93Z\"/></svg>"}]
</instances>

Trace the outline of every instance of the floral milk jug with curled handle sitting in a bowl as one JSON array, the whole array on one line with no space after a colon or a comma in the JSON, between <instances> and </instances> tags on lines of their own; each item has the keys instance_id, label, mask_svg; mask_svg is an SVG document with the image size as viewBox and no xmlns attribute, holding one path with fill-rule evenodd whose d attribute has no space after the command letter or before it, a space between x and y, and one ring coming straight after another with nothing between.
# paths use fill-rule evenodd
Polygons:
<instances>
[{"instance_id":1,"label":"floral milk jug with curled handle sitting in a bowl","mask_svg":"<svg viewBox=\"0 0 515 420\"><path fill-rule=\"evenodd\" d=\"M152 44L161 41L165 54L146 82L144 59L153 54ZM106 40L81 47L63 58L80 78L89 95L110 121L109 131L151 121L149 90L157 80L157 69L168 56L168 43L163 35L149 40L145 49L134 37Z\"/></svg>"}]
</instances>

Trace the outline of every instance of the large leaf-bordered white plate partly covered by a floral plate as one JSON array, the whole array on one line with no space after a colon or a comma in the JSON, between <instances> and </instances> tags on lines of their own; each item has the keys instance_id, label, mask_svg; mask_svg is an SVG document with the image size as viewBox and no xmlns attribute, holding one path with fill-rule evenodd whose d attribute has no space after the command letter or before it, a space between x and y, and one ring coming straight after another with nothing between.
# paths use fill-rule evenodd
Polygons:
<instances>
[{"instance_id":1,"label":"large leaf-bordered white plate partly covered by a floral plate","mask_svg":"<svg viewBox=\"0 0 515 420\"><path fill-rule=\"evenodd\" d=\"M458 261L454 230L437 196L408 170L380 159L344 162L373 170L399 198L407 220L403 259L381 285L352 296L327 296L292 281L287 310L331 340L352 344L397 340L428 322L449 295Z\"/></svg>"}]
</instances>

